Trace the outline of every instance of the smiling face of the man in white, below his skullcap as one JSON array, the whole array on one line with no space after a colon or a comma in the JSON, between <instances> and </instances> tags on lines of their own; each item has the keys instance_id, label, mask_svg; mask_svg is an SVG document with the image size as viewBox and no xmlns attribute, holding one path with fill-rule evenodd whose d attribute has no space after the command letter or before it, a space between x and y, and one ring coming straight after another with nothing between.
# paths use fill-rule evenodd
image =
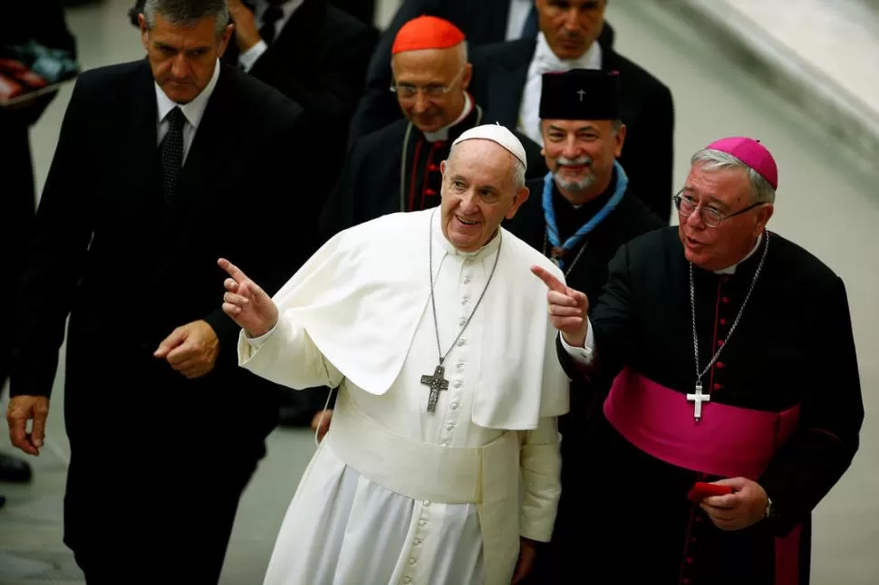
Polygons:
<instances>
[{"instance_id":1,"label":"smiling face of the man in white, below his skullcap","mask_svg":"<svg viewBox=\"0 0 879 585\"><path fill-rule=\"evenodd\" d=\"M442 171L442 233L461 252L477 252L528 198L507 149L486 139L455 145Z\"/></svg>"}]
</instances>

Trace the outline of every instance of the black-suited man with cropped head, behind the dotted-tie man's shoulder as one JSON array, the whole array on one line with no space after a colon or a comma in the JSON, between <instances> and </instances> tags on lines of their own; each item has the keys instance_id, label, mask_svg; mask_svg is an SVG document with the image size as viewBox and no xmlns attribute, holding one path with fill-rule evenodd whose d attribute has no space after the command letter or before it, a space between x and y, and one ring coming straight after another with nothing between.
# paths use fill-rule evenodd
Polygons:
<instances>
[{"instance_id":1,"label":"black-suited man with cropped head, behind the dotted-tie man's shoulder","mask_svg":"<svg viewBox=\"0 0 879 585\"><path fill-rule=\"evenodd\" d=\"M134 19L143 3L131 9ZM337 176L378 32L326 0L229 0L228 5L235 34L223 61L281 91L319 121L322 131L310 139L323 156L311 172ZM300 205L317 216L330 187L332 182L315 183ZM309 227L316 242L314 226ZM282 392L279 422L309 425L326 398L325 390Z\"/></svg>"}]
</instances>

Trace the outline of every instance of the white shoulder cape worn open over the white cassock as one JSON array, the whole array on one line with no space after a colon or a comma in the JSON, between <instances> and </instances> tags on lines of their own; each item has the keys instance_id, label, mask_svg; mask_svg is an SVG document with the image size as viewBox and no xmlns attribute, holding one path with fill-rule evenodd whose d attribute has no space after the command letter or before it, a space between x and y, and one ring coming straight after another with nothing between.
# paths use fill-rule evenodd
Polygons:
<instances>
[{"instance_id":1,"label":"white shoulder cape worn open over the white cassock","mask_svg":"<svg viewBox=\"0 0 879 585\"><path fill-rule=\"evenodd\" d=\"M280 318L304 327L333 366L375 395L391 388L430 302L430 209L382 216L335 235L275 294ZM438 210L439 213L439 210ZM564 282L543 254L502 230L495 280L479 306L490 335L472 420L487 428L533 429L568 410L568 379L555 353L538 264ZM258 373L258 372L257 372Z\"/></svg>"}]
</instances>

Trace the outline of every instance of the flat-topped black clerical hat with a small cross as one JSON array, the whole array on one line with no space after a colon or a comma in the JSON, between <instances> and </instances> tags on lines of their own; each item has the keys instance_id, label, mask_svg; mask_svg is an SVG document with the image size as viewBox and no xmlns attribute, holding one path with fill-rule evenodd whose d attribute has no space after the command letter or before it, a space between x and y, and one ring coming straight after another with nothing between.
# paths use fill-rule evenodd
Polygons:
<instances>
[{"instance_id":1,"label":"flat-topped black clerical hat with a small cross","mask_svg":"<svg viewBox=\"0 0 879 585\"><path fill-rule=\"evenodd\" d=\"M591 69L544 73L541 120L619 120L620 74Z\"/></svg>"}]
</instances>

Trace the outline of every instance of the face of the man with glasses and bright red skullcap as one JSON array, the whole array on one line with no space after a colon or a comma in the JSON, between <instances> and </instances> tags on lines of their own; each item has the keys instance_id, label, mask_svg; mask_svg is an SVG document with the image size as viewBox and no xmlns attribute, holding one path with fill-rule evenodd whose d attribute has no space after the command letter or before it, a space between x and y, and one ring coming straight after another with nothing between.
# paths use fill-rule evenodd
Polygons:
<instances>
[{"instance_id":1,"label":"face of the man with glasses and bright red skullcap","mask_svg":"<svg viewBox=\"0 0 879 585\"><path fill-rule=\"evenodd\" d=\"M448 49L397 53L391 69L400 108L422 132L449 126L464 110L464 92L472 76L466 42Z\"/></svg>"}]
</instances>

